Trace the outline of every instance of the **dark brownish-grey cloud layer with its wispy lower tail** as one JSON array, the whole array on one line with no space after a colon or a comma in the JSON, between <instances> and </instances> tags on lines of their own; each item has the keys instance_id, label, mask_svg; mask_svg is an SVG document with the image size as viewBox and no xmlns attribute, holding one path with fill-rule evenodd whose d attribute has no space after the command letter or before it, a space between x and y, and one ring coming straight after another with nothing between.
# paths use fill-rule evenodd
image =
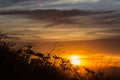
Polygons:
<instances>
[{"instance_id":1,"label":"dark brownish-grey cloud layer with its wispy lower tail","mask_svg":"<svg viewBox=\"0 0 120 80\"><path fill-rule=\"evenodd\" d=\"M51 22L45 27L51 27L60 24L86 24L85 20L81 16L90 16L94 24L99 25L113 25L114 27L119 25L120 16L117 11L90 11L90 10L13 10L7 12L0 12L0 15L24 15L28 19L32 20L45 20ZM81 19L80 19L81 18ZM84 22L82 21L84 20ZM89 21L89 20L88 20ZM87 23L89 24L89 22ZM93 26L98 27L98 26ZM103 26L105 27L105 26Z\"/></svg>"}]
</instances>

